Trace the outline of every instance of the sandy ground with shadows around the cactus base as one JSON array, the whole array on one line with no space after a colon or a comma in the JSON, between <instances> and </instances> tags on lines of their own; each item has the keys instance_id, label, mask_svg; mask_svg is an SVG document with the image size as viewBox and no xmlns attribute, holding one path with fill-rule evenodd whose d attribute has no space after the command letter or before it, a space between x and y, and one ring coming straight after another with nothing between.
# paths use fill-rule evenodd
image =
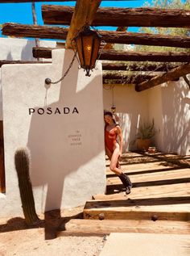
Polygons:
<instances>
[{"instance_id":1,"label":"sandy ground with shadows around the cactus base","mask_svg":"<svg viewBox=\"0 0 190 256\"><path fill-rule=\"evenodd\" d=\"M46 220L40 227L32 228L26 225L23 217L0 220L0 256L97 256L105 245L106 237L59 237L59 233L54 237L53 230L63 223L64 216L69 218L77 212L81 212L81 208L64 211L59 219L57 212L52 211L49 216L39 216Z\"/></svg>"}]
</instances>

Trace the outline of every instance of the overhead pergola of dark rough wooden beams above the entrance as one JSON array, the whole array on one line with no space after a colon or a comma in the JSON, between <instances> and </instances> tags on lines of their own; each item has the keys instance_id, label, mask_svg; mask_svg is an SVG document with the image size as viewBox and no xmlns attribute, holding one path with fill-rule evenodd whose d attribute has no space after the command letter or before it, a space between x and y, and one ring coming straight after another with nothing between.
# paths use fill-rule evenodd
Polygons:
<instances>
[{"instance_id":1,"label":"overhead pergola of dark rough wooden beams above the entrance","mask_svg":"<svg viewBox=\"0 0 190 256\"><path fill-rule=\"evenodd\" d=\"M31 2L27 0L0 0L2 2ZM43 2L43 1L35 1ZM53 1L51 1L53 2ZM62 0L66 2L66 0ZM190 48L189 36L163 36L159 34L127 32L127 27L190 27L190 10L156 9L156 8L101 8L101 0L77 0L75 7L43 5L42 16L44 26L5 23L2 34L5 36L34 37L40 39L65 40L64 48L72 48L71 40L85 23L92 26L118 27L116 31L99 31L105 41L105 49L101 53L103 82L134 83L136 91L147 90L163 82L178 80L190 73L190 52L134 52L116 51L113 44L140 44L176 48ZM54 25L51 27L49 25ZM57 25L57 27L55 27ZM59 26L68 27L59 27ZM36 58L52 58L53 48L33 48ZM106 62L109 61L109 62ZM125 61L112 63L111 61ZM127 62L126 62L127 61ZM157 64L127 64L128 61L151 61ZM179 63L168 65L168 62ZM0 61L0 66L12 61ZM15 62L14 62L15 63ZM18 63L18 61L17 61ZM21 62L20 62L21 63ZM33 62L34 63L34 62ZM43 62L42 62L43 63ZM47 63L47 62L46 62ZM110 73L107 73L108 70ZM138 75L113 73L114 70L140 72ZM153 74L141 74L152 72ZM155 76L155 72L163 72Z\"/></svg>"}]
</instances>

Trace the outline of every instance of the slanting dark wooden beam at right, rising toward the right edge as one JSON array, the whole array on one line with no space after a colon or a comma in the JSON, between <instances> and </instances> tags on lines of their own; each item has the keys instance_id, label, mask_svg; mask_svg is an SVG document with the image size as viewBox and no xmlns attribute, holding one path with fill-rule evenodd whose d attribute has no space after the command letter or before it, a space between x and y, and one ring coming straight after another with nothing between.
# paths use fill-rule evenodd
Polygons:
<instances>
[{"instance_id":1,"label":"slanting dark wooden beam at right, rising toward the right edge","mask_svg":"<svg viewBox=\"0 0 190 256\"><path fill-rule=\"evenodd\" d=\"M183 77L184 75L190 73L190 63L180 65L176 69L171 69L167 73L163 73L147 82L142 82L135 86L136 91L147 90L154 86L159 86L163 82L168 82L176 78Z\"/></svg>"}]
</instances>

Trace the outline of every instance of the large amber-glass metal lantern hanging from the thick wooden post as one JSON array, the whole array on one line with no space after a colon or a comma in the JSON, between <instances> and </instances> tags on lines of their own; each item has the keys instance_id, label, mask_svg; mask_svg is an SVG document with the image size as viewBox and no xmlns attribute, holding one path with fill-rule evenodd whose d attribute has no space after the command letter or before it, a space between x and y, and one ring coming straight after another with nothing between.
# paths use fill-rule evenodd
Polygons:
<instances>
[{"instance_id":1,"label":"large amber-glass metal lantern hanging from the thick wooden post","mask_svg":"<svg viewBox=\"0 0 190 256\"><path fill-rule=\"evenodd\" d=\"M89 71L95 68L101 46L101 36L97 31L90 30L89 26L85 26L75 38L72 44L74 51L78 52L79 63L82 69L85 69L86 76L90 76Z\"/></svg>"}]
</instances>

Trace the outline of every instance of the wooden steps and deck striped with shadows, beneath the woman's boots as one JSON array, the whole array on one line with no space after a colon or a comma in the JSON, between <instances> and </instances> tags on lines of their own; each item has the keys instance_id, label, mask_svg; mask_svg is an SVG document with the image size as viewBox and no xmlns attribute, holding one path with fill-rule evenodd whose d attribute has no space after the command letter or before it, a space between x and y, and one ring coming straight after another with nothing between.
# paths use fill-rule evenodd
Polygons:
<instances>
[{"instance_id":1,"label":"wooden steps and deck striped with shadows, beneath the woman's boots","mask_svg":"<svg viewBox=\"0 0 190 256\"><path fill-rule=\"evenodd\" d=\"M65 233L190 233L189 157L126 153L122 170L130 175L130 195L109 171L105 195L93 195L83 218L70 220Z\"/></svg>"}]
</instances>

